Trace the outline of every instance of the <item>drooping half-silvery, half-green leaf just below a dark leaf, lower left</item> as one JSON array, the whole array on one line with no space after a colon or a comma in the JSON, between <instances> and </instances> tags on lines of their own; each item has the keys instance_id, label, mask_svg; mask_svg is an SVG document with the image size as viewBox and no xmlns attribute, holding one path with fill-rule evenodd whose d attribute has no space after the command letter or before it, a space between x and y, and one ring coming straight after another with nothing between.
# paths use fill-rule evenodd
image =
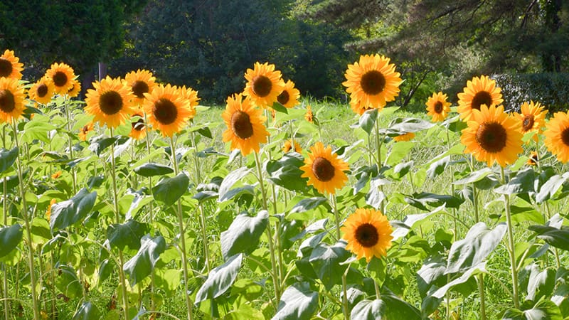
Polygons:
<instances>
[{"instance_id":1,"label":"drooping half-silvery, half-green leaf just below a dark leaf, lower left","mask_svg":"<svg viewBox=\"0 0 569 320\"><path fill-rule=\"evenodd\" d=\"M129 276L131 287L134 287L154 270L156 261L164 250L166 250L166 240L161 235L155 238L151 238L150 235L142 237L137 254L124 263L122 268Z\"/></svg>"}]
</instances>

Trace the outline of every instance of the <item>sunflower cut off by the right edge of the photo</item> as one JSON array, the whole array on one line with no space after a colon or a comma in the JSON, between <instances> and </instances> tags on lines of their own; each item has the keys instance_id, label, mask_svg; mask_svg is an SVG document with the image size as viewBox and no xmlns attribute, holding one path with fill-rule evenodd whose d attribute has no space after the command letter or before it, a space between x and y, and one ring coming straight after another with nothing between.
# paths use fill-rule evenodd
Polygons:
<instances>
[{"instance_id":1,"label":"sunflower cut off by the right edge of the photo","mask_svg":"<svg viewBox=\"0 0 569 320\"><path fill-rule=\"evenodd\" d=\"M569 117L565 112L555 112L553 119L549 119L546 130L545 144L552 154L557 156L558 161L569 161Z\"/></svg>"}]
</instances>

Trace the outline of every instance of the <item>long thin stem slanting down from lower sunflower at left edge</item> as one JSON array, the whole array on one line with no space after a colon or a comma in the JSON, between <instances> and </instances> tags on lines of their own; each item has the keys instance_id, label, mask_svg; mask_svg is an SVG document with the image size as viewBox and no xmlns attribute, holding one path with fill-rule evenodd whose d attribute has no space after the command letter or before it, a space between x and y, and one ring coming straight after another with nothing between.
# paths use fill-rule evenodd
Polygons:
<instances>
[{"instance_id":1,"label":"long thin stem slanting down from lower sunflower at left edge","mask_svg":"<svg viewBox=\"0 0 569 320\"><path fill-rule=\"evenodd\" d=\"M26 243L28 244L28 250L30 255L28 256L28 267L30 269L30 282L31 282L31 301L33 304L33 319L39 320L40 312L39 312L39 304L38 304L38 296L36 294L36 269L33 267L33 243L31 240L31 226L30 226L30 217L28 217L28 203L26 203L26 187L23 186L23 174L22 174L22 164L20 159L20 146L18 142L18 128L16 125L16 119L12 121L12 127L14 129L14 141L16 142L16 148L18 148L18 156L16 157L16 166L18 170L18 184L20 185L20 196L22 201L22 217L23 223L26 228ZM17 297L17 296L16 296Z\"/></svg>"}]
</instances>

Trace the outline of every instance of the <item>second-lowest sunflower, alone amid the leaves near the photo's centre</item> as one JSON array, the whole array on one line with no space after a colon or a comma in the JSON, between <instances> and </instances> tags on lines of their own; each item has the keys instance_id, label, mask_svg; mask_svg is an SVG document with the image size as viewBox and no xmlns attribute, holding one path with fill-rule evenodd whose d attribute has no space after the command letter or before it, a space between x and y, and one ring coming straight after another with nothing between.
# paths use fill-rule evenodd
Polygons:
<instances>
[{"instance_id":1,"label":"second-lowest sunflower, alone amid the leaves near the photo's centre","mask_svg":"<svg viewBox=\"0 0 569 320\"><path fill-rule=\"evenodd\" d=\"M300 169L304 171L302 177L308 178L309 186L314 186L320 193L333 194L348 181L344 171L350 168L344 160L338 159L337 154L332 154L330 146L324 148L321 142L317 142L310 148L309 156Z\"/></svg>"}]
</instances>

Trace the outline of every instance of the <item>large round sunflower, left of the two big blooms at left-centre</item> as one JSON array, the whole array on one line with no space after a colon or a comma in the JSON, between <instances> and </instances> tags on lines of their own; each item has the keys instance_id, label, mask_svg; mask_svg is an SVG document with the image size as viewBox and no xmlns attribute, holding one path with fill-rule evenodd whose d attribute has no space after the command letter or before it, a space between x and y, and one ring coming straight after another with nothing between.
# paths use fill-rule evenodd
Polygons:
<instances>
[{"instance_id":1,"label":"large round sunflower, left of the two big blooms at left-centre","mask_svg":"<svg viewBox=\"0 0 569 320\"><path fill-rule=\"evenodd\" d=\"M100 82L93 82L95 89L87 90L85 97L85 111L94 116L93 121L102 126L116 128L129 118L134 112L132 106L132 92L120 78L107 78Z\"/></svg>"}]
</instances>

